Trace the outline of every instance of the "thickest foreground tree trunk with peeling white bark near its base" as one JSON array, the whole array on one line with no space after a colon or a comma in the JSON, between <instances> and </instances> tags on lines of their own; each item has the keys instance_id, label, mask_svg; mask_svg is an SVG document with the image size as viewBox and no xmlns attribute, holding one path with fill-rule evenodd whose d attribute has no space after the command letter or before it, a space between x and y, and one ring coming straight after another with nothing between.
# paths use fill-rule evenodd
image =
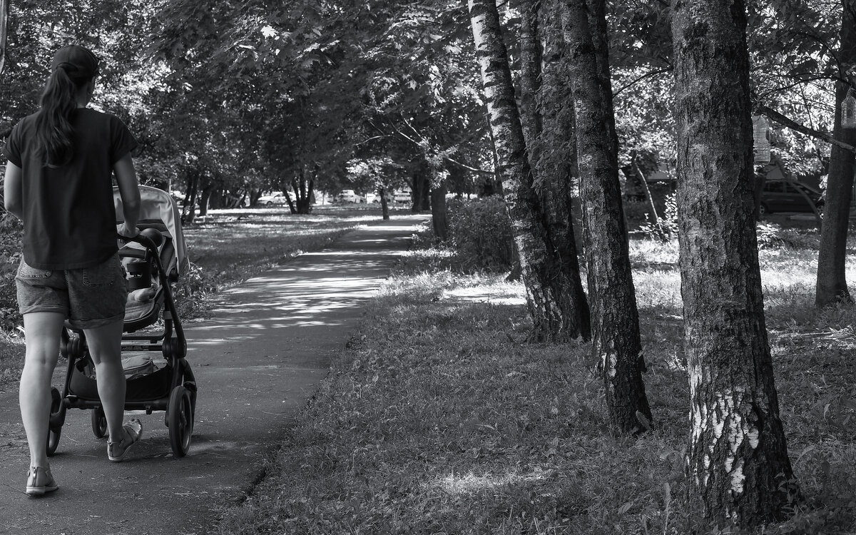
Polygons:
<instances>
[{"instance_id":1,"label":"thickest foreground tree trunk with peeling white bark near its base","mask_svg":"<svg viewBox=\"0 0 856 535\"><path fill-rule=\"evenodd\" d=\"M795 487L758 268L746 8L741 0L676 5L689 492L710 524L755 526L776 519Z\"/></svg>"}]
</instances>

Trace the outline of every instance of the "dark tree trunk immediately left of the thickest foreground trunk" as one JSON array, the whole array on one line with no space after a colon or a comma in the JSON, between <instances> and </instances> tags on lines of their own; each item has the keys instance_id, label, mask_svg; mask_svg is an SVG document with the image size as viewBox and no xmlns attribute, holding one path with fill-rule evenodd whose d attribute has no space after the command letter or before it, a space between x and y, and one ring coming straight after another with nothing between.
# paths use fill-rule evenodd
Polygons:
<instances>
[{"instance_id":1,"label":"dark tree trunk immediately left of the thickest foreground trunk","mask_svg":"<svg viewBox=\"0 0 856 535\"><path fill-rule=\"evenodd\" d=\"M606 49L596 45L602 38L589 17L603 11L592 7L585 0L568 0L562 13L586 220L592 352L603 374L611 424L619 431L634 432L645 429L637 413L650 420L651 408L642 382L645 362L621 206L612 90L609 77L601 75L602 68L609 70L609 62L607 57L597 58Z\"/></svg>"}]
</instances>

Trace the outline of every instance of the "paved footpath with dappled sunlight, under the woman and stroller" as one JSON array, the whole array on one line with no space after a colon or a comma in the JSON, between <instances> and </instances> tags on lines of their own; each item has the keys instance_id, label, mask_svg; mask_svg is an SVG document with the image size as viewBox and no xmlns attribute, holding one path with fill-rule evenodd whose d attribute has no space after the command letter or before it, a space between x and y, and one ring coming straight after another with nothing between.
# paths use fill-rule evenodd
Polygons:
<instances>
[{"instance_id":1,"label":"paved footpath with dappled sunlight, under the woman and stroller","mask_svg":"<svg viewBox=\"0 0 856 535\"><path fill-rule=\"evenodd\" d=\"M284 429L423 221L393 217L354 230L232 288L211 318L185 324L199 383L187 457L172 456L163 412L140 413L143 441L126 461L111 463L105 439L92 435L89 411L69 410L51 460L60 489L31 498L23 492L29 455L17 389L0 393L0 533L210 532L217 512L264 473Z\"/></svg>"}]
</instances>

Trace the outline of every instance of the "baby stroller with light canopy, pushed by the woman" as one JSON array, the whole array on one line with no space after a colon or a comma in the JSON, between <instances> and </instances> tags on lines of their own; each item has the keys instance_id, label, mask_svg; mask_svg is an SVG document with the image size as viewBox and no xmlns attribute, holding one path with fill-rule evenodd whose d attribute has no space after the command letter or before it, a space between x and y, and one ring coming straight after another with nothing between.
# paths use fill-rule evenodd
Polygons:
<instances>
[{"instance_id":1,"label":"baby stroller with light canopy, pushed by the woman","mask_svg":"<svg viewBox=\"0 0 856 535\"><path fill-rule=\"evenodd\" d=\"M116 214L122 199L114 187ZM175 309L172 285L187 270L187 248L181 234L181 213L169 193L140 186L140 235L120 241L119 258L128 276L128 306L122 334L122 366L125 368L126 411L165 411L169 444L176 457L187 455L196 410L196 380L187 355L187 340ZM118 223L121 223L118 222ZM134 300L136 290L146 300ZM62 391L51 389L51 419L47 454L54 455L68 408L92 413L92 432L107 434L104 408L98 398L95 366L86 336L68 322L62 330L62 356L68 370ZM163 359L152 358L159 351Z\"/></svg>"}]
</instances>

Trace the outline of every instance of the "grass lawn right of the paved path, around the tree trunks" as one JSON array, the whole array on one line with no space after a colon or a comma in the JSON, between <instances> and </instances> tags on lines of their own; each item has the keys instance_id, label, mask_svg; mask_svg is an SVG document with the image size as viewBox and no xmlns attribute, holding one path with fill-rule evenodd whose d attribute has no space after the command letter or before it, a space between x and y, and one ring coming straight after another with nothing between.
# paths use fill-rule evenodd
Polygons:
<instances>
[{"instance_id":1,"label":"grass lawn right of the paved path, around the tree trunks","mask_svg":"<svg viewBox=\"0 0 856 535\"><path fill-rule=\"evenodd\" d=\"M816 236L765 232L770 345L805 499L764 533L853 533L856 310L814 309ZM653 431L609 431L588 345L523 342L519 284L456 274L448 253L416 251L219 532L711 533L697 531L685 496L677 246L634 239L631 249Z\"/></svg>"}]
</instances>

